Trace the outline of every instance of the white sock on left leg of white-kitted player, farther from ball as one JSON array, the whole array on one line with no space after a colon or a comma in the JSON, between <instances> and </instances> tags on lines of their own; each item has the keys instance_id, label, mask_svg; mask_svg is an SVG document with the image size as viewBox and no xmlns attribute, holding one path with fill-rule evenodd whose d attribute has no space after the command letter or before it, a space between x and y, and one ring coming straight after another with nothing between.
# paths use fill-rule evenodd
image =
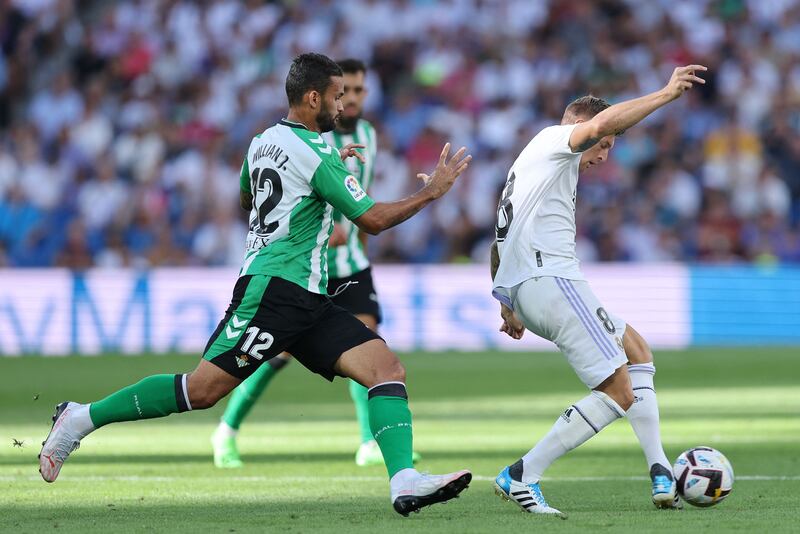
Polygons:
<instances>
[{"instance_id":1,"label":"white sock on left leg of white-kitted player, farther from ball","mask_svg":"<svg viewBox=\"0 0 800 534\"><path fill-rule=\"evenodd\" d=\"M614 399L602 391L592 391L567 408L550 432L522 457L522 481L539 482L556 459L624 416L625 410Z\"/></svg>"}]
</instances>

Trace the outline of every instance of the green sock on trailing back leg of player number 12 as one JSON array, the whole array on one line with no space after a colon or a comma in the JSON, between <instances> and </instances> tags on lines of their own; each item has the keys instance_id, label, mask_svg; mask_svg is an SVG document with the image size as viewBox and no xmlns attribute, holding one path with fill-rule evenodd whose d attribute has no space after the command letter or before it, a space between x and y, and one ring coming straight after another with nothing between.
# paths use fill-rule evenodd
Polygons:
<instances>
[{"instance_id":1,"label":"green sock on trailing back leg of player number 12","mask_svg":"<svg viewBox=\"0 0 800 534\"><path fill-rule=\"evenodd\" d=\"M109 423L164 417L191 409L186 375L153 375L91 403L89 417L95 428Z\"/></svg>"}]
</instances>

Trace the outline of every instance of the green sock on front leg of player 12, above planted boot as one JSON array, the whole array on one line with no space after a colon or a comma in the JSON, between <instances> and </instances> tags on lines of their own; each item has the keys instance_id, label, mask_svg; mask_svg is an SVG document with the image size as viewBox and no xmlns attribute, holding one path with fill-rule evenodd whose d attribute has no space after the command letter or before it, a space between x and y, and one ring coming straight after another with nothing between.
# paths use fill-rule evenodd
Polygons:
<instances>
[{"instance_id":1,"label":"green sock on front leg of player 12, above planted boot","mask_svg":"<svg viewBox=\"0 0 800 534\"><path fill-rule=\"evenodd\" d=\"M414 467L411 412L405 385L388 382L370 389L369 424L383 453L389 478L402 469Z\"/></svg>"}]
</instances>

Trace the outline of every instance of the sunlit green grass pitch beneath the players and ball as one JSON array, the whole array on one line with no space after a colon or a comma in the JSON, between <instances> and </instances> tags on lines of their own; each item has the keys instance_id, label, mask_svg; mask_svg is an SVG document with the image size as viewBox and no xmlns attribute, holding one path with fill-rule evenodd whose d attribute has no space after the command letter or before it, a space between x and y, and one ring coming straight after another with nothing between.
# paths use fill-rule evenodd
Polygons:
<instances>
[{"instance_id":1,"label":"sunlit green grass pitch beneath the players and ball","mask_svg":"<svg viewBox=\"0 0 800 534\"><path fill-rule=\"evenodd\" d=\"M528 516L491 481L585 394L555 353L415 353L408 368L419 468L469 468L458 500L404 519L382 468L357 468L357 428L343 381L296 362L240 433L245 468L213 467L222 405L88 437L52 485L36 454L53 406L90 401L140 377L191 369L189 356L0 358L1 532L797 532L800 353L703 349L657 354L656 388L671 458L711 445L737 475L716 507L659 511L630 426L617 421L556 462L543 484L569 518ZM38 398L36 400L35 397ZM24 440L23 447L12 439Z\"/></svg>"}]
</instances>

